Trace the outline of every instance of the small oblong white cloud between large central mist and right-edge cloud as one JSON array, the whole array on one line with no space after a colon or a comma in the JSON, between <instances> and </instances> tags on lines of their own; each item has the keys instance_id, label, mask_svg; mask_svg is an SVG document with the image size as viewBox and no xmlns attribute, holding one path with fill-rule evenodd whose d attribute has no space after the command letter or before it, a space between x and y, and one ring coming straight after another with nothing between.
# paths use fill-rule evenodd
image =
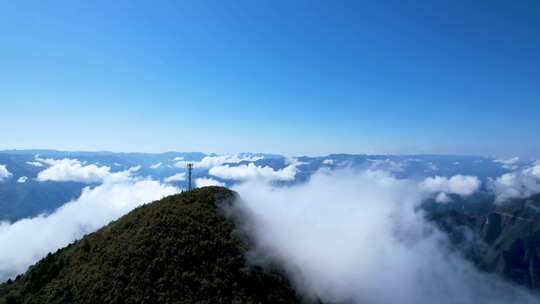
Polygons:
<instances>
[{"instance_id":1,"label":"small oblong white cloud between large central mist and right-edge cloud","mask_svg":"<svg viewBox=\"0 0 540 304\"><path fill-rule=\"evenodd\" d=\"M420 188L428 193L444 192L468 196L480 188L481 182L476 176L454 175L450 178L445 176L428 177L420 183Z\"/></svg>"}]
</instances>

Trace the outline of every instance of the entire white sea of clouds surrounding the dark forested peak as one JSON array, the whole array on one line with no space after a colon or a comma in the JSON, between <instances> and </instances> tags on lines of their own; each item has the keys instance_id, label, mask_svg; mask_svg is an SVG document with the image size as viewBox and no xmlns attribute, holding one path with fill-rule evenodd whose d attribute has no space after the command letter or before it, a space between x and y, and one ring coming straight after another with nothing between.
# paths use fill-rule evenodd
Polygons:
<instances>
[{"instance_id":1,"label":"entire white sea of clouds surrounding the dark forested peak","mask_svg":"<svg viewBox=\"0 0 540 304\"><path fill-rule=\"evenodd\" d=\"M424 219L418 206L426 198L448 203L482 187L475 176L397 178L403 164L373 161L362 169L335 167L332 159L306 182L296 178L301 164L290 159L281 169L256 165L260 156L207 156L197 168L197 187L232 181L241 197L235 211L249 214L245 232L256 240L251 263L283 265L299 292L337 303L536 303L519 287L477 271L449 248L446 236ZM175 159L180 167L183 159ZM540 193L540 163L491 179L496 202ZM142 177L140 166L113 172L108 166L77 159L36 157L43 167L38 182L87 183L79 198L50 214L0 224L0 281L23 273L49 252L93 232L141 204L181 191L172 183ZM163 164L152 165L158 169ZM337 169L336 169L337 168ZM13 177L0 165L0 182ZM21 179L22 178L22 179ZM28 178L19 177L18 181Z\"/></svg>"}]
</instances>

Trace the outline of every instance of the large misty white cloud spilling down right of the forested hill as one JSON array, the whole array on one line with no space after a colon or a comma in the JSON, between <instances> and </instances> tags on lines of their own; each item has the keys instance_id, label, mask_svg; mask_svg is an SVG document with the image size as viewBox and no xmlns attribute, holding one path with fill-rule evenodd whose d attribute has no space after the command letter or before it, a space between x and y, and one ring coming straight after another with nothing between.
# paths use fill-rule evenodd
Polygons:
<instances>
[{"instance_id":1,"label":"large misty white cloud spilling down right of the forested hill","mask_svg":"<svg viewBox=\"0 0 540 304\"><path fill-rule=\"evenodd\" d=\"M384 172L319 171L307 183L234 188L255 240L251 263L278 263L297 290L329 303L536 303L476 270L417 211L417 183ZM235 211L235 210L233 210ZM245 221L246 222L246 221Z\"/></svg>"}]
</instances>

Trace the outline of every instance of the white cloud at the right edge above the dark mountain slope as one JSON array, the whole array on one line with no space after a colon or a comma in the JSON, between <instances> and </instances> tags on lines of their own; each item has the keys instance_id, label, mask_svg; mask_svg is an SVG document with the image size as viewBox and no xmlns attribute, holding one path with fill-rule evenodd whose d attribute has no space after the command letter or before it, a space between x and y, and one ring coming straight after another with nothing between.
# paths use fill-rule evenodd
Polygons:
<instances>
[{"instance_id":1,"label":"white cloud at the right edge above the dark mountain slope","mask_svg":"<svg viewBox=\"0 0 540 304\"><path fill-rule=\"evenodd\" d=\"M503 174L490 180L489 187L495 193L497 203L540 193L540 164Z\"/></svg>"}]
</instances>

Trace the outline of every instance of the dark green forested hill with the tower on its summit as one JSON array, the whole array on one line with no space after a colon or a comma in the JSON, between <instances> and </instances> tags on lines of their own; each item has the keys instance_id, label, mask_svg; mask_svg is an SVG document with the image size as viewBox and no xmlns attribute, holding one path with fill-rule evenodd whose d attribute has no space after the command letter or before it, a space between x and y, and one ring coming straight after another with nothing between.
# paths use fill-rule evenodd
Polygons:
<instances>
[{"instance_id":1,"label":"dark green forested hill with the tower on its summit","mask_svg":"<svg viewBox=\"0 0 540 304\"><path fill-rule=\"evenodd\" d=\"M248 267L206 187L139 207L0 285L0 303L296 303L276 271Z\"/></svg>"}]
</instances>

